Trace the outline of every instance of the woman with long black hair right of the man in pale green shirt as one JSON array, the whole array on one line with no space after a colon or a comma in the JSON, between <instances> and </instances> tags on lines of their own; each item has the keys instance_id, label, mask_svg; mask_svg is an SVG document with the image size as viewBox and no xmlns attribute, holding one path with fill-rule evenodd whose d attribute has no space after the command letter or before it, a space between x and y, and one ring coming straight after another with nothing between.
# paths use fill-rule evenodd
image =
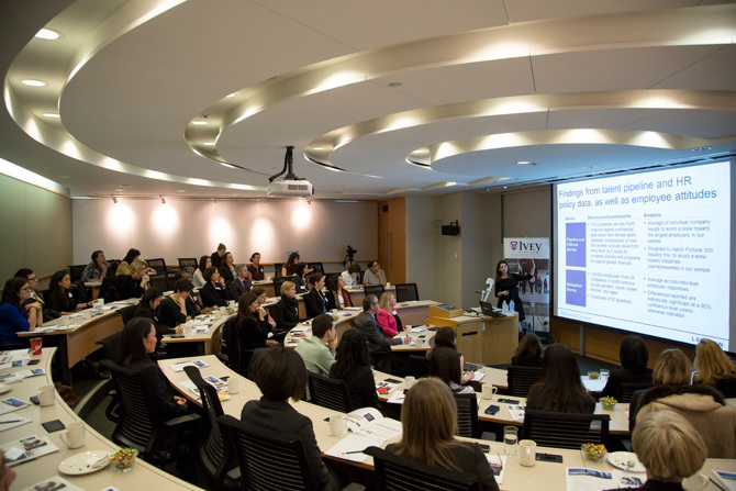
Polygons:
<instances>
[{"instance_id":1,"label":"woman with long black hair right of the man in pale green shirt","mask_svg":"<svg viewBox=\"0 0 736 491\"><path fill-rule=\"evenodd\" d=\"M347 382L356 409L381 406L373 371L370 369L368 341L363 331L347 330L343 334L335 350L335 364L330 368L330 377Z\"/></svg>"}]
</instances>

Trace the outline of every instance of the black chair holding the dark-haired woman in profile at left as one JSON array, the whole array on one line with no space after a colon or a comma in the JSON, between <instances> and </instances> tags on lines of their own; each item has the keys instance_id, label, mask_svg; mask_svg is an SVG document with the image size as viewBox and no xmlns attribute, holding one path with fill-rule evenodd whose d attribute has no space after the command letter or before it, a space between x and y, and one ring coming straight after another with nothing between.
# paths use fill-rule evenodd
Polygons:
<instances>
[{"instance_id":1,"label":"black chair holding the dark-haired woman in profile at left","mask_svg":"<svg viewBox=\"0 0 736 491\"><path fill-rule=\"evenodd\" d=\"M165 420L146 378L110 360L100 365L112 373L112 381L120 399L120 420L112 433L112 440L121 446L135 448L141 458L156 466L165 466L180 457L179 444L189 445L196 435L200 416L187 414Z\"/></svg>"}]
</instances>

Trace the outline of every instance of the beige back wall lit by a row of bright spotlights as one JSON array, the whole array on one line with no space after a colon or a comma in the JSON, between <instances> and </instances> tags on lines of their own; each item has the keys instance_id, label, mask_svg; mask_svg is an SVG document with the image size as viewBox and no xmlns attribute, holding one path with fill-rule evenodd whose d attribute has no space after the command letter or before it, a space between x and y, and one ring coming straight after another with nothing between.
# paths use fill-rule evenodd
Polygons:
<instances>
[{"instance_id":1,"label":"beige back wall lit by a row of bright spotlights","mask_svg":"<svg viewBox=\"0 0 736 491\"><path fill-rule=\"evenodd\" d=\"M96 249L122 259L131 247L176 264L212 254L220 242L238 263L256 250L264 263L280 263L294 249L306 263L342 261L348 244L364 261L378 257L377 236L375 201L74 200L75 264Z\"/></svg>"}]
</instances>

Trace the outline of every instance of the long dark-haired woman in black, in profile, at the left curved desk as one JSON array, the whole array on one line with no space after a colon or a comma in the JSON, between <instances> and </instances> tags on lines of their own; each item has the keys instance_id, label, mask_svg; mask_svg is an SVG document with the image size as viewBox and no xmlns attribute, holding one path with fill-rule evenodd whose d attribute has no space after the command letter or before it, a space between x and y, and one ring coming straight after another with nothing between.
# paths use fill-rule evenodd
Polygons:
<instances>
[{"instance_id":1,"label":"long dark-haired woman in black, in profile, at the left curved desk","mask_svg":"<svg viewBox=\"0 0 736 491\"><path fill-rule=\"evenodd\" d=\"M187 414L187 400L174 394L166 376L149 357L156 350L156 328L149 319L132 319L123 327L118 365L143 372L164 419Z\"/></svg>"}]
</instances>

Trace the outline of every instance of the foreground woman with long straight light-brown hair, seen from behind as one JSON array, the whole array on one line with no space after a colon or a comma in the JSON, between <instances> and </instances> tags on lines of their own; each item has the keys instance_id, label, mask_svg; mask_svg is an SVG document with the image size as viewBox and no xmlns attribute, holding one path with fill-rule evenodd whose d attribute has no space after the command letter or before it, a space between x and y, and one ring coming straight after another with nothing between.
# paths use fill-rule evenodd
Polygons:
<instances>
[{"instance_id":1,"label":"foreground woman with long straight light-brown hair, seen from behind","mask_svg":"<svg viewBox=\"0 0 736 491\"><path fill-rule=\"evenodd\" d=\"M432 424L426 424L426 422ZM457 404L437 378L422 379L406 392L401 409L401 442L388 451L425 466L478 476L483 491L498 491L491 465L478 444L455 438Z\"/></svg>"}]
</instances>

